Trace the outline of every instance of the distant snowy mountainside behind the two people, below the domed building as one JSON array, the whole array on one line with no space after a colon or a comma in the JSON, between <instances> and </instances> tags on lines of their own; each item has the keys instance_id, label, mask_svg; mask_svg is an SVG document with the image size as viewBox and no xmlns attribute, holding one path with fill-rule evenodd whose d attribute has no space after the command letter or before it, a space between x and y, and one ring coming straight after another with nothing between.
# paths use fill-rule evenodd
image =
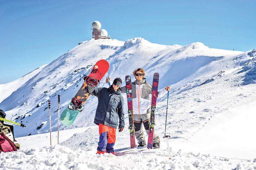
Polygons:
<instances>
[{"instance_id":1,"label":"distant snowy mountainside behind the two people, below the domed building","mask_svg":"<svg viewBox=\"0 0 256 170\"><path fill-rule=\"evenodd\" d=\"M132 76L135 68L143 67L150 83L154 72L159 72L159 88L173 84L174 95L200 86L219 72L241 67L252 58L248 53L212 49L202 43L165 46L142 38L125 42L112 39L84 41L44 67L3 100L0 108L7 111L7 118L26 124L26 130L16 127L17 136L45 133L49 131L47 100L52 100L52 126L56 130L57 94L61 95L62 112L82 85L83 76L99 59L110 63L106 76L112 79L119 76L124 81L125 75ZM104 81L100 84L103 86L108 87ZM61 129L93 125L96 106L97 99L90 97L75 123L70 127L61 125Z\"/></svg>"}]
</instances>

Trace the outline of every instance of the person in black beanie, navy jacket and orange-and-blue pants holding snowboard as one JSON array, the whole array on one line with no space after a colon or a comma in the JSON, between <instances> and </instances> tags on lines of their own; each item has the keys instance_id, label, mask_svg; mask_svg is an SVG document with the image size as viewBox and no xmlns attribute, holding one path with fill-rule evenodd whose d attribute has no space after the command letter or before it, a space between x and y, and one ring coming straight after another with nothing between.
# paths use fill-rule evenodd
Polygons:
<instances>
[{"instance_id":1,"label":"person in black beanie, navy jacket and orange-and-blue pants holding snowboard","mask_svg":"<svg viewBox=\"0 0 256 170\"><path fill-rule=\"evenodd\" d=\"M93 95L98 98L98 106L94 123L99 126L99 143L97 154L114 154L116 128L119 132L124 129L124 98L120 92L122 80L116 78L109 88L95 88ZM118 122L119 119L119 122Z\"/></svg>"}]
</instances>

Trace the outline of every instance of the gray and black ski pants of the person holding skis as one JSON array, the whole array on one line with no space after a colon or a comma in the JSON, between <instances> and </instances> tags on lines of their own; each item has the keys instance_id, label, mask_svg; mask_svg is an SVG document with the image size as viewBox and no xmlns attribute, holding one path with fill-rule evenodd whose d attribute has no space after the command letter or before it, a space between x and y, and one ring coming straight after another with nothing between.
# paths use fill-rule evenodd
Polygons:
<instances>
[{"instance_id":1,"label":"gray and black ski pants of the person holding skis","mask_svg":"<svg viewBox=\"0 0 256 170\"><path fill-rule=\"evenodd\" d=\"M148 134L149 120L150 120L150 113L133 115L135 137L138 140L139 145L140 144L147 145L147 142L145 140L145 136L143 134L142 124L143 124L143 126L146 130L146 133ZM160 138L158 136L156 136L155 133L154 133L154 136L153 136L153 143L159 143L160 144Z\"/></svg>"}]
</instances>

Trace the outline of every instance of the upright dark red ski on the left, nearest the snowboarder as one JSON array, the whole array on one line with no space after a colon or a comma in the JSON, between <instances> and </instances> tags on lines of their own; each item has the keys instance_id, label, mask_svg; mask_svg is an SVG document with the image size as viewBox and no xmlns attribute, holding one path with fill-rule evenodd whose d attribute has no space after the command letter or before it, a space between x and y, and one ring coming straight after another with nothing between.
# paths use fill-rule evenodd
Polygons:
<instances>
[{"instance_id":1,"label":"upright dark red ski on the left, nearest the snowboarder","mask_svg":"<svg viewBox=\"0 0 256 170\"><path fill-rule=\"evenodd\" d=\"M129 132L130 132L130 142L131 148L136 147L135 135L134 135L134 124L133 124L133 109L132 109L132 80L130 76L125 76L126 84L126 95L128 104L128 118L129 118Z\"/></svg>"}]
</instances>

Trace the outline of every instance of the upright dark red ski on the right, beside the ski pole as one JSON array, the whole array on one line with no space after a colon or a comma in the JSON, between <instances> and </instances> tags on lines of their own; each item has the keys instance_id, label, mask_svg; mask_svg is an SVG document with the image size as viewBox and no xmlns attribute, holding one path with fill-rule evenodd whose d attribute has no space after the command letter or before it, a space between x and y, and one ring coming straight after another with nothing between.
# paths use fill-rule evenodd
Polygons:
<instances>
[{"instance_id":1,"label":"upright dark red ski on the right, beside the ski pole","mask_svg":"<svg viewBox=\"0 0 256 170\"><path fill-rule=\"evenodd\" d=\"M154 125L155 125L155 110L157 105L157 93L158 93L158 80L159 74L155 73L153 77L153 85L152 85L152 99L151 99L151 114L150 114L150 122L148 129L148 142L147 148L153 148L153 135L154 135Z\"/></svg>"}]
</instances>

